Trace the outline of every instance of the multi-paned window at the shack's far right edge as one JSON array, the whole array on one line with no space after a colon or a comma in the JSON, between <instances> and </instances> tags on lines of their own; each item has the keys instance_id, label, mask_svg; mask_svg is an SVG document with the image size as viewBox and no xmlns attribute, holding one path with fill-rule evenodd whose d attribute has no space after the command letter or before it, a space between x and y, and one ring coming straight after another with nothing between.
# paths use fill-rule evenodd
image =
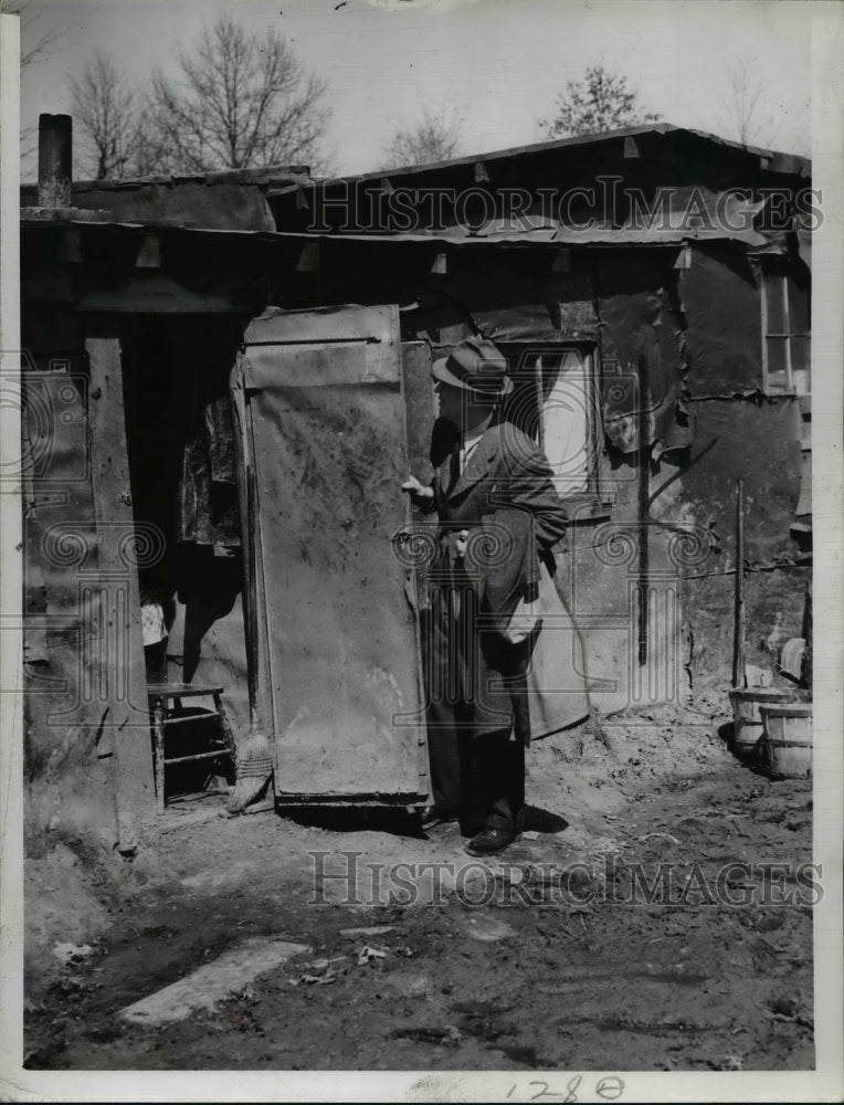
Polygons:
<instances>
[{"instance_id":1,"label":"multi-paned window at the shack's far right edge","mask_svg":"<svg viewBox=\"0 0 844 1105\"><path fill-rule=\"evenodd\" d=\"M768 394L810 390L809 281L784 263L762 269L762 370Z\"/></svg>"}]
</instances>

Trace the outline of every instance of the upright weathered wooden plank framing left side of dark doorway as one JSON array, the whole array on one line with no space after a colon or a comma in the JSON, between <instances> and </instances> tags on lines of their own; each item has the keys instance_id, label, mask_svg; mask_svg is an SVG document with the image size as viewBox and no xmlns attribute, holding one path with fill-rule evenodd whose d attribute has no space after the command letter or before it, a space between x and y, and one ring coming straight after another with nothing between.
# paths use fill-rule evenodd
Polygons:
<instances>
[{"instance_id":1,"label":"upright weathered wooden plank framing left side of dark doorway","mask_svg":"<svg viewBox=\"0 0 844 1105\"><path fill-rule=\"evenodd\" d=\"M91 366L91 432L94 517L97 528L97 580L103 603L105 645L91 648L86 662L97 666L114 733L115 800L118 846L133 851L140 820L155 809L149 706L140 635L138 572L133 559L131 507L123 367L116 323L88 324L85 349ZM96 335L96 336L94 336ZM112 655L109 642L116 645Z\"/></svg>"}]
</instances>

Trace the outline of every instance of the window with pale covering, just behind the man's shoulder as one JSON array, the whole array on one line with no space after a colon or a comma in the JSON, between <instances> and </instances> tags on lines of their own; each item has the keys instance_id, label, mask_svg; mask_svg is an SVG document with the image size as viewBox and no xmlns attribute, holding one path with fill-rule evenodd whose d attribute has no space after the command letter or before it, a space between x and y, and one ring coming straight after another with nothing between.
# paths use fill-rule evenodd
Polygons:
<instances>
[{"instance_id":1,"label":"window with pale covering, just behind the man's shoulder","mask_svg":"<svg viewBox=\"0 0 844 1105\"><path fill-rule=\"evenodd\" d=\"M561 497L597 496L601 438L591 349L536 344L502 349L515 383L505 417L544 450Z\"/></svg>"}]
</instances>

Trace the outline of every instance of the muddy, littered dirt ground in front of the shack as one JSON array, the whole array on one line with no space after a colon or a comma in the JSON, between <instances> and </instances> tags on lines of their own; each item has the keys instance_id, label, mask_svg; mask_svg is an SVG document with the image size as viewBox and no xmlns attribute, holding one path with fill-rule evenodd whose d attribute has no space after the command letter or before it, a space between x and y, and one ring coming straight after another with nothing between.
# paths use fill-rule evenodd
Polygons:
<instances>
[{"instance_id":1,"label":"muddy, littered dirt ground in front of the shack","mask_svg":"<svg viewBox=\"0 0 844 1105\"><path fill-rule=\"evenodd\" d=\"M51 834L27 863L25 1065L811 1069L811 894L793 873L812 859L811 782L740 764L719 720L664 711L538 744L531 828L486 864L453 825L226 819L222 799L168 810L131 861ZM456 888L439 904L407 904L421 878L392 904L355 904L360 882L352 901L337 880L315 891L315 865L339 871L344 852L358 872L445 864ZM664 865L672 891L633 901L635 864L648 883ZM210 1011L161 1027L117 1015L278 936L309 950ZM57 943L91 951L60 961Z\"/></svg>"}]
</instances>

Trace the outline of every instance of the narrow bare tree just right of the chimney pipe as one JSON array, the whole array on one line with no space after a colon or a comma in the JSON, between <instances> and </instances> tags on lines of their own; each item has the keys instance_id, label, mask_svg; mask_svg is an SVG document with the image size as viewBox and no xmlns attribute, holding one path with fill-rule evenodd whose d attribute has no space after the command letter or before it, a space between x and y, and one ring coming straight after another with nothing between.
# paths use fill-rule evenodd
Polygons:
<instances>
[{"instance_id":1,"label":"narrow bare tree just right of the chimney pipe","mask_svg":"<svg viewBox=\"0 0 844 1105\"><path fill-rule=\"evenodd\" d=\"M83 149L97 180L137 173L133 164L138 113L135 95L115 63L102 50L82 74L71 78L72 110L83 137Z\"/></svg>"}]
</instances>

